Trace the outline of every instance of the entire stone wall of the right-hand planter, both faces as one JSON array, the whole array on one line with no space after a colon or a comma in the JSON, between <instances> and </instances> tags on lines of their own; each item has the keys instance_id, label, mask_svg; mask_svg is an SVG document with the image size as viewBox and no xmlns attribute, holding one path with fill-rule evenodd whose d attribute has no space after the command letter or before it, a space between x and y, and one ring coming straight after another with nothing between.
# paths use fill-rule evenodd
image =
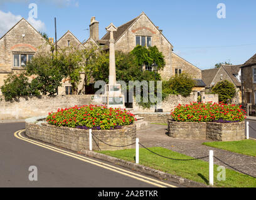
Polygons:
<instances>
[{"instance_id":1,"label":"entire stone wall of the right-hand planter, both faces","mask_svg":"<svg viewBox=\"0 0 256 200\"><path fill-rule=\"evenodd\" d=\"M181 139L239 141L245 139L245 122L182 123L168 119L168 135L173 138Z\"/></svg>"}]
</instances>

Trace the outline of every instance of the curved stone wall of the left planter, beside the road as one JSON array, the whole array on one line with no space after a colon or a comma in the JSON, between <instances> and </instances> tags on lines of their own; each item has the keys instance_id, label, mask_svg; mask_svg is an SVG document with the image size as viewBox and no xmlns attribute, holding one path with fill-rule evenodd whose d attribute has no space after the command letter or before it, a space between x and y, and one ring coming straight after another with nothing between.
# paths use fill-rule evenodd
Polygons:
<instances>
[{"instance_id":1,"label":"curved stone wall of the left planter, beside the road","mask_svg":"<svg viewBox=\"0 0 256 200\"><path fill-rule=\"evenodd\" d=\"M114 146L125 146L135 143L136 125L124 126L116 130L92 130L92 133L107 144ZM39 139L46 143L54 144L61 148L73 151L89 149L89 131L67 127L57 127L46 123L36 123L26 120L26 135L30 138ZM98 139L92 141L93 150L118 150L130 149L134 146L125 148L115 148L108 146Z\"/></svg>"}]
</instances>

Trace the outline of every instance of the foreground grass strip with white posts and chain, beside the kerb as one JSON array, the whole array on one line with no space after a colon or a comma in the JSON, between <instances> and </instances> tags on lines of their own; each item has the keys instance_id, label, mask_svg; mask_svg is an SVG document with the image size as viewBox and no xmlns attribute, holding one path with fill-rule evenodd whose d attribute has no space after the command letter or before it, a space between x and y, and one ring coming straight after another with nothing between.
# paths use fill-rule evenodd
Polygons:
<instances>
[{"instance_id":1,"label":"foreground grass strip with white posts and chain, beside the kerb","mask_svg":"<svg viewBox=\"0 0 256 200\"><path fill-rule=\"evenodd\" d=\"M177 159L191 159L191 157L176 153L169 149L164 148L149 148L157 154L166 156L169 158ZM102 154L106 154L115 158L123 159L135 163L135 149L125 149L117 151L97 151ZM199 183L208 184L208 162L195 160L195 161L173 161L171 159L161 158L144 148L139 150L139 164L147 166L149 168L164 171L165 173L181 176ZM226 169L226 181L217 180L218 166L214 166L215 173L215 187L256 187L256 179L245 174L238 173L236 171Z\"/></svg>"}]
</instances>

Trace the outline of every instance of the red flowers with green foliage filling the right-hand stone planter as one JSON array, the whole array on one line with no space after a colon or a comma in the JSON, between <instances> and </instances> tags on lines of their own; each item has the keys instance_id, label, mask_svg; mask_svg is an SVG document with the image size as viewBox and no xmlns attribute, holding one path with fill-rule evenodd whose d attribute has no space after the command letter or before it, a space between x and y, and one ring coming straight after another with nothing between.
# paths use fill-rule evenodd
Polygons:
<instances>
[{"instance_id":1,"label":"red flowers with green foliage filling the right-hand stone planter","mask_svg":"<svg viewBox=\"0 0 256 200\"><path fill-rule=\"evenodd\" d=\"M181 122L220 122L232 123L244 121L245 111L241 106L223 103L179 104L171 113L174 121Z\"/></svg>"}]
</instances>

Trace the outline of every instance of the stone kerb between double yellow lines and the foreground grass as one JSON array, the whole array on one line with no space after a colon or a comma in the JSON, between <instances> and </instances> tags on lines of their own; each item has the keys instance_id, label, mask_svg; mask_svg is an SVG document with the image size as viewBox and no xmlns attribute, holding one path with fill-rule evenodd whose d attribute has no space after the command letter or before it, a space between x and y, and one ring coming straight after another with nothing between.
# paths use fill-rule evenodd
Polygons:
<instances>
[{"instance_id":1,"label":"stone kerb between double yellow lines and the foreground grass","mask_svg":"<svg viewBox=\"0 0 256 200\"><path fill-rule=\"evenodd\" d=\"M81 153L86 155L86 156L92 157L92 158L101 159L103 161L108 161L110 163L117 164L117 165L122 166L124 168L132 169L133 171L138 171L138 172L141 172L143 174L147 174L149 176L154 176L155 178L158 178L158 179L161 179L161 180L166 179L168 181L172 181L174 183L181 184L183 186L187 186L187 187L211 187L211 186L206 186L205 184L202 184L202 183L198 183L196 181L191 181L189 179L181 178L181 177L175 176L173 174L164 173L163 171L148 168L148 167L142 166L140 164L131 163L129 161L124 161L122 159L114 158L112 156L107 156L105 154L100 154L100 153L97 153L97 152L94 152L94 151L88 151L88 150L83 149L81 151Z\"/></svg>"}]
</instances>

